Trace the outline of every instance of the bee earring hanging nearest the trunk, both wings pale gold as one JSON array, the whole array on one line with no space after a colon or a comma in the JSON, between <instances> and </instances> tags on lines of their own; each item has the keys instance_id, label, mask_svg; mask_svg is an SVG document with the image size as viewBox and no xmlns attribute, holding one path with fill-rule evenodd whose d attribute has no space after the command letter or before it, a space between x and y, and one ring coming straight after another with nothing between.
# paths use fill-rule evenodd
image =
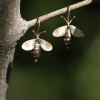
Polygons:
<instances>
[{"instance_id":1,"label":"bee earring hanging nearest the trunk, both wings pale gold","mask_svg":"<svg viewBox=\"0 0 100 100\"><path fill-rule=\"evenodd\" d=\"M40 21L39 21L39 17L37 17L37 24L38 24L38 30L37 30L37 33L35 32L35 26L34 26L34 30L33 30L33 36L34 34L36 35L36 38L35 39L31 39L31 40L28 40L28 41L25 41L23 44L22 44L22 49L25 50L25 51L30 51L32 50L32 56L34 57L35 59L35 62L37 62L37 59L40 57L40 51L41 51L41 48L45 51L51 51L52 50L52 45L43 40L43 39L40 39L39 36L41 33L45 33L46 31L43 31L43 32L40 32L39 33L39 29L40 29Z\"/></svg>"}]
</instances>

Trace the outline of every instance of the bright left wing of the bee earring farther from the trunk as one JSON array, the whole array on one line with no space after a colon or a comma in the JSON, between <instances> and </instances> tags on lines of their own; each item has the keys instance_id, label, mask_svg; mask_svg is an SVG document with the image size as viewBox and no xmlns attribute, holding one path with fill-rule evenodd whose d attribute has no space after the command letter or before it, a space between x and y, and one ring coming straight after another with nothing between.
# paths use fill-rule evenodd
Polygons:
<instances>
[{"instance_id":1,"label":"bright left wing of the bee earring farther from the trunk","mask_svg":"<svg viewBox=\"0 0 100 100\"><path fill-rule=\"evenodd\" d=\"M54 36L54 37L61 37L61 36L65 35L66 29L67 29L67 25L55 29L55 30L53 31L53 36Z\"/></svg>"}]
</instances>

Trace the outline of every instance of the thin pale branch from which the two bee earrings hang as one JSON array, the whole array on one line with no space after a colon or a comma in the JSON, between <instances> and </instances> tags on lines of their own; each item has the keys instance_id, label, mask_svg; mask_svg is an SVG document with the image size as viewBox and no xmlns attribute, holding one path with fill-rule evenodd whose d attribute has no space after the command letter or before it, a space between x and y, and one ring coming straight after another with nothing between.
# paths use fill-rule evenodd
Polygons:
<instances>
[{"instance_id":1,"label":"thin pale branch from which the two bee earrings hang","mask_svg":"<svg viewBox=\"0 0 100 100\"><path fill-rule=\"evenodd\" d=\"M70 5L70 11L74 10L74 9L77 9L77 8L80 8L80 7L83 7L83 6L86 6L86 5L89 5L89 4L97 2L97 1L100 1L100 0L84 0L84 1L81 1L79 3ZM56 17L58 15L66 13L66 12L67 12L67 7L59 9L59 10L54 11L54 12L51 12L51 13L46 14L46 15L40 16L39 19L40 19L40 22L43 22L43 21L46 21L50 18ZM36 18L33 19L33 20L30 20L30 21L27 21L28 27L34 26L36 21L37 21Z\"/></svg>"}]
</instances>

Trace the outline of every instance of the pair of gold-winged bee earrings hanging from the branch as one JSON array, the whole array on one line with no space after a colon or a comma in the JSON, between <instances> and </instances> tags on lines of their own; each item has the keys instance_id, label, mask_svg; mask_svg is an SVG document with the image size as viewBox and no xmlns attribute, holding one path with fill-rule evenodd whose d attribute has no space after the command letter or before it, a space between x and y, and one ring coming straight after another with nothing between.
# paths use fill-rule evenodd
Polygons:
<instances>
[{"instance_id":1,"label":"pair of gold-winged bee earrings hanging from the branch","mask_svg":"<svg viewBox=\"0 0 100 100\"><path fill-rule=\"evenodd\" d=\"M78 29L77 27L75 27L73 25L70 25L70 23L75 18L75 16L71 20L70 20L69 17L70 17L70 10L69 10L69 7L68 7L67 20L63 16L61 16L61 18L63 18L65 20L67 25L59 27L59 28L57 28L53 31L54 37L64 36L64 42L65 42L67 49L69 49L69 46L72 43L73 36L75 36L75 37L83 37L84 36L84 33L80 29ZM37 62L37 59L40 57L41 48L45 51L51 51L53 49L52 45L49 42L39 38L41 33L46 32L46 31L43 31L43 32L39 33L39 29L40 29L39 17L37 17L37 24L38 24L37 33L35 32L35 26L36 25L34 26L34 30L33 30L33 37L34 37L34 34L35 34L36 38L25 41L22 44L23 50L25 50L25 51L31 50L32 55L35 59L35 62Z\"/></svg>"}]
</instances>

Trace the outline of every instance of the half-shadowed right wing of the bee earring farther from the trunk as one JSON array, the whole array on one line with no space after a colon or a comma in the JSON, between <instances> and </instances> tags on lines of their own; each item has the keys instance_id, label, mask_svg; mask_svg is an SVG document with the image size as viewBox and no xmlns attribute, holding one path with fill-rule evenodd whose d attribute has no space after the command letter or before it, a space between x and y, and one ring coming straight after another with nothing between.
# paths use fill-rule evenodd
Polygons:
<instances>
[{"instance_id":1,"label":"half-shadowed right wing of the bee earring farther from the trunk","mask_svg":"<svg viewBox=\"0 0 100 100\"><path fill-rule=\"evenodd\" d=\"M83 37L84 36L84 33L78 29L76 26L73 26L73 25L69 25L70 26L70 29L71 29L71 33L73 36L75 37Z\"/></svg>"}]
</instances>

